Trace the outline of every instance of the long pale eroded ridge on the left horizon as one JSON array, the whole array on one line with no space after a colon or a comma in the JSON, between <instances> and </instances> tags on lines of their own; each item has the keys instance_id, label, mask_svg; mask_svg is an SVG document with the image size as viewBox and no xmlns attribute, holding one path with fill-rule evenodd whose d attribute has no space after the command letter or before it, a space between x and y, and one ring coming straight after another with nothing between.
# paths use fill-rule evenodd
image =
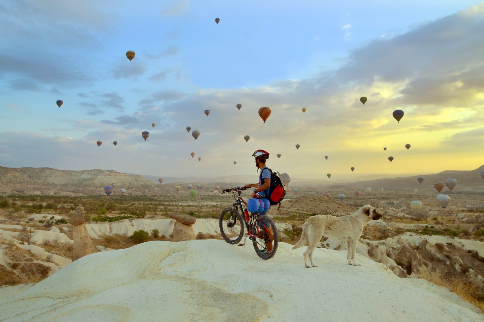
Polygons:
<instances>
[{"instance_id":1,"label":"long pale eroded ridge on the left horizon","mask_svg":"<svg viewBox=\"0 0 484 322\"><path fill-rule=\"evenodd\" d=\"M57 170L53 168L0 167L0 194L82 196L104 194L103 187L116 182L115 191L155 193L154 182L140 175L114 170Z\"/></svg>"}]
</instances>

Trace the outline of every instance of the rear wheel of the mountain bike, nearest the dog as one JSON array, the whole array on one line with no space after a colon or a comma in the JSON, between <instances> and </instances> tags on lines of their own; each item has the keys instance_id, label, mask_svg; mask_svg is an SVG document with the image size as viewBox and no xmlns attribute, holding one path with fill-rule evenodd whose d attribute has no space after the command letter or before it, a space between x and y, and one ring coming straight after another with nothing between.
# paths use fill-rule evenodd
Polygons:
<instances>
[{"instance_id":1,"label":"rear wheel of the mountain bike, nearest the dog","mask_svg":"<svg viewBox=\"0 0 484 322\"><path fill-rule=\"evenodd\" d=\"M267 215L258 216L255 229L256 234L257 232L260 233L260 238L255 237L252 240L252 245L254 245L257 256L262 259L272 258L277 251L277 245L279 243L279 237L277 236L277 229L274 222Z\"/></svg>"}]
</instances>

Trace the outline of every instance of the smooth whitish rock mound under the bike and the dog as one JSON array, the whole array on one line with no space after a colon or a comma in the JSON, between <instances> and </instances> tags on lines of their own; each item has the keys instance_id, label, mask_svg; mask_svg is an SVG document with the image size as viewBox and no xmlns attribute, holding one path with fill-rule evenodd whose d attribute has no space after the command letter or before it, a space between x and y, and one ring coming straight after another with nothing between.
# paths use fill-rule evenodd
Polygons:
<instances>
[{"instance_id":1,"label":"smooth whitish rock mound under the bike and the dog","mask_svg":"<svg viewBox=\"0 0 484 322\"><path fill-rule=\"evenodd\" d=\"M0 321L483 321L426 280L357 255L280 243L268 261L222 240L152 241L87 255L30 287L0 288ZM7 296L5 296L7 295Z\"/></svg>"}]
</instances>

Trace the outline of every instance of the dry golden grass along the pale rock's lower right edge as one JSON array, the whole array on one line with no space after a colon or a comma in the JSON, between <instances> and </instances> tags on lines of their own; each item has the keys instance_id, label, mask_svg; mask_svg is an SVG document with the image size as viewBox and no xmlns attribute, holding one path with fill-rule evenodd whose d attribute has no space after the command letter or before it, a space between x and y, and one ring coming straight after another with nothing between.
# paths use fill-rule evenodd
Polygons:
<instances>
[{"instance_id":1,"label":"dry golden grass along the pale rock's lower right edge","mask_svg":"<svg viewBox=\"0 0 484 322\"><path fill-rule=\"evenodd\" d=\"M454 292L462 299L468 301L476 308L480 308L484 312L484 301L476 298L478 286L475 283L472 283L469 279L465 277L452 277L446 279L444 273L439 269L430 271L425 266L420 267L418 276L449 289L451 292Z\"/></svg>"}]
</instances>

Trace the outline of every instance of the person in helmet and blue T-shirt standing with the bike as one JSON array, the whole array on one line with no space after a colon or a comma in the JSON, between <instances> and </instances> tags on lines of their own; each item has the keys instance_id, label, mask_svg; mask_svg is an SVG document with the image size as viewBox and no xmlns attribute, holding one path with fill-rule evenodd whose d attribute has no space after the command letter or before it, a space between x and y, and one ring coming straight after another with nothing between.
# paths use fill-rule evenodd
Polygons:
<instances>
[{"instance_id":1,"label":"person in helmet and blue T-shirt standing with the bike","mask_svg":"<svg viewBox=\"0 0 484 322\"><path fill-rule=\"evenodd\" d=\"M259 175L259 183L249 183L245 185L245 188L256 188L254 192L251 194L251 197L255 197L256 195L265 195L269 197L269 188L271 187L271 171L269 168L266 167L266 160L269 159L269 152L264 150L257 150L252 154L256 158L256 167L257 173L260 170ZM265 215L267 211L259 213L260 215ZM272 252L272 239L274 234L272 232L271 225L266 225L269 229L269 240L266 241L267 251ZM259 227L262 228L262 223L259 224Z\"/></svg>"}]
</instances>

